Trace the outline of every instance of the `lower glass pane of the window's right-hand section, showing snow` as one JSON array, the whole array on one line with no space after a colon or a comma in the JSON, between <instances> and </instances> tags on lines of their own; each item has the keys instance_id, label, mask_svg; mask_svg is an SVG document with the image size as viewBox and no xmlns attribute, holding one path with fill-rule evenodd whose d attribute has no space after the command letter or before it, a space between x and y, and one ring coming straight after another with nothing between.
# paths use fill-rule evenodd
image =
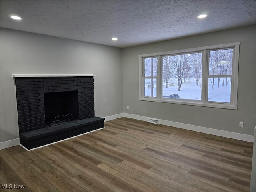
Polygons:
<instances>
[{"instance_id":1,"label":"lower glass pane of the window's right-hand section, showing snow","mask_svg":"<svg viewBox=\"0 0 256 192\"><path fill-rule=\"evenodd\" d=\"M208 101L230 103L231 77L208 78Z\"/></svg>"}]
</instances>

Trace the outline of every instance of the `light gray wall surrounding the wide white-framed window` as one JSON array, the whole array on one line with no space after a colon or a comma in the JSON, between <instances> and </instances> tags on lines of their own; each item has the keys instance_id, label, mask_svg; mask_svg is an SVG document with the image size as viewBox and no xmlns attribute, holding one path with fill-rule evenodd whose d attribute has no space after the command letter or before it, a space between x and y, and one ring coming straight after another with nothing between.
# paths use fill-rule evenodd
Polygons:
<instances>
[{"instance_id":1,"label":"light gray wall surrounding the wide white-framed window","mask_svg":"<svg viewBox=\"0 0 256 192\"><path fill-rule=\"evenodd\" d=\"M256 122L255 34L255 25L252 25L164 42L123 48L124 112L253 135ZM238 75L238 110L139 100L138 55L232 42L241 42ZM127 110L126 106L129 106L130 109ZM244 128L239 128L239 122L244 122Z\"/></svg>"}]
</instances>

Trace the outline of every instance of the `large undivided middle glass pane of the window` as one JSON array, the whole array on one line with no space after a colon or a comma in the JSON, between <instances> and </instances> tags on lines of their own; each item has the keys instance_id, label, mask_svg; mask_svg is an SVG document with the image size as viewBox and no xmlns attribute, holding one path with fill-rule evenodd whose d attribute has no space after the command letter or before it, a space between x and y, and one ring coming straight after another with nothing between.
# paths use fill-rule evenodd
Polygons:
<instances>
[{"instance_id":1,"label":"large undivided middle glass pane of the window","mask_svg":"<svg viewBox=\"0 0 256 192\"><path fill-rule=\"evenodd\" d=\"M163 98L201 100L202 52L162 57Z\"/></svg>"}]
</instances>

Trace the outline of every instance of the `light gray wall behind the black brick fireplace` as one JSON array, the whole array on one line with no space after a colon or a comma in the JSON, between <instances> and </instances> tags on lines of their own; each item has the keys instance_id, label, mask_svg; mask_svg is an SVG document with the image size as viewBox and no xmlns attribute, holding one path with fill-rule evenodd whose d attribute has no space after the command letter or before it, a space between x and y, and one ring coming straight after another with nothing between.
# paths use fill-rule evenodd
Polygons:
<instances>
[{"instance_id":1,"label":"light gray wall behind the black brick fireplace","mask_svg":"<svg viewBox=\"0 0 256 192\"><path fill-rule=\"evenodd\" d=\"M123 112L121 48L1 28L1 142L19 137L12 74L95 74L95 115Z\"/></svg>"}]
</instances>

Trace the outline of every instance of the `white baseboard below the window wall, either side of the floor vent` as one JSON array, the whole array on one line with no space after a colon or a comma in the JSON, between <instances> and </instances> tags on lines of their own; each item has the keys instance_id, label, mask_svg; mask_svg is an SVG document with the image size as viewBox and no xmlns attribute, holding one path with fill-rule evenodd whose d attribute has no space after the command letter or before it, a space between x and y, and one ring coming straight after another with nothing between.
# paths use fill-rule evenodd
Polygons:
<instances>
[{"instance_id":1,"label":"white baseboard below the window wall, either side of the floor vent","mask_svg":"<svg viewBox=\"0 0 256 192\"><path fill-rule=\"evenodd\" d=\"M142 120L142 121L147 121L147 119L148 119L148 117L145 117L145 116L128 114L128 113L124 113L124 117ZM173 121L162 120L162 119L159 119L159 124L182 128L182 129L191 130L191 131L196 131L196 132L201 132L201 133L206 133L206 134L211 134L211 135L216 135L216 136L222 136L222 137L231 138L231 139L254 142L253 135L240 134L240 133L235 133L235 132L212 129L212 128L207 128L207 127L201 127L201 126L173 122Z\"/></svg>"}]
</instances>

